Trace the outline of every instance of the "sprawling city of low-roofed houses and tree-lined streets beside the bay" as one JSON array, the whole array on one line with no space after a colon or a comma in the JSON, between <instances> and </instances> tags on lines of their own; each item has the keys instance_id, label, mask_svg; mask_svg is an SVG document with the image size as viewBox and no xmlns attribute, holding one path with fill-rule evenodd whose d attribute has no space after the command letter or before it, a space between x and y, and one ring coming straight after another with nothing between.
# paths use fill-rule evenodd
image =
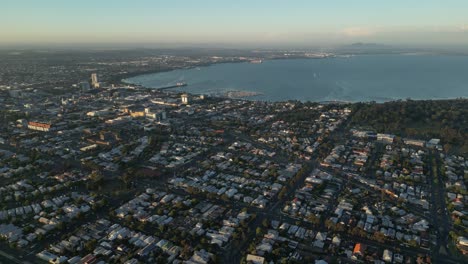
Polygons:
<instances>
[{"instance_id":1,"label":"sprawling city of low-roofed houses and tree-lined streets beside the bay","mask_svg":"<svg viewBox=\"0 0 468 264\"><path fill-rule=\"evenodd\" d=\"M118 72L171 58L250 60ZM71 84L3 72L8 263L466 263L468 160L443 138L350 127L352 104L148 89L102 65Z\"/></svg>"}]
</instances>

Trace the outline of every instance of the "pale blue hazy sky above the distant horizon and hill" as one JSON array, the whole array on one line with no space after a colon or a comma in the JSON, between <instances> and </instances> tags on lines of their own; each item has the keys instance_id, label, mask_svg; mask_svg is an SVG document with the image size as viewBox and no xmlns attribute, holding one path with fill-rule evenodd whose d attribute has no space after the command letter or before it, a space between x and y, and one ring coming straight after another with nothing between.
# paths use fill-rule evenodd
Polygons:
<instances>
[{"instance_id":1,"label":"pale blue hazy sky above the distant horizon and hill","mask_svg":"<svg viewBox=\"0 0 468 264\"><path fill-rule=\"evenodd\" d=\"M0 0L0 45L468 46L467 0Z\"/></svg>"}]
</instances>

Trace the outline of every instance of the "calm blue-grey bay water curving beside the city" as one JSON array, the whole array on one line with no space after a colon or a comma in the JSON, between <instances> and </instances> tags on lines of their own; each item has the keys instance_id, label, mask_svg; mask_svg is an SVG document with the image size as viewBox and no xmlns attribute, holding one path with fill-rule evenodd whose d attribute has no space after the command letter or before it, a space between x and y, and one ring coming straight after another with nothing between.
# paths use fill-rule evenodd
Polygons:
<instances>
[{"instance_id":1,"label":"calm blue-grey bay water curving beside the city","mask_svg":"<svg viewBox=\"0 0 468 264\"><path fill-rule=\"evenodd\" d=\"M193 94L251 92L263 101L385 102L468 97L468 56L359 55L226 63L146 74L126 80Z\"/></svg>"}]
</instances>

